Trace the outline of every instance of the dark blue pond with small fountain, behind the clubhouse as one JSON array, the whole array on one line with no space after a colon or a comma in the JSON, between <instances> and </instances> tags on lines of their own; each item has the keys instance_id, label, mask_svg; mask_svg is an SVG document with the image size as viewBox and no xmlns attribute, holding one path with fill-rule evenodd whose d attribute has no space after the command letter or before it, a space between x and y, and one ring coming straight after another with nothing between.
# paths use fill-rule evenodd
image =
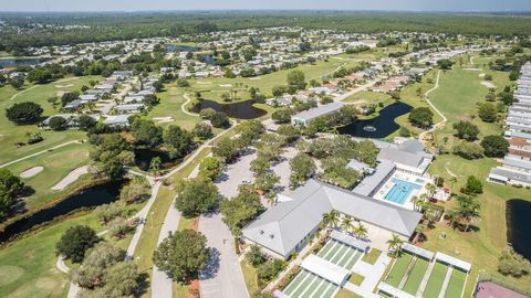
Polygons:
<instances>
[{"instance_id":1,"label":"dark blue pond with small fountain, behind the clubhouse","mask_svg":"<svg viewBox=\"0 0 531 298\"><path fill-rule=\"evenodd\" d=\"M383 139L400 128L395 123L395 119L409 113L409 110L412 110L409 105L397 102L384 107L377 117L367 120L356 120L337 128L337 132L358 138Z\"/></svg>"}]
</instances>

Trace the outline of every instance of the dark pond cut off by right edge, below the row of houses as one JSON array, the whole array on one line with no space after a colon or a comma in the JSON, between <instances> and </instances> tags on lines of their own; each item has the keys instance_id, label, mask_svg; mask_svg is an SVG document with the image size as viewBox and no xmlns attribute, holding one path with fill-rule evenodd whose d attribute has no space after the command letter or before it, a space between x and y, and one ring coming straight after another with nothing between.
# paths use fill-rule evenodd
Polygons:
<instances>
[{"instance_id":1,"label":"dark pond cut off by right edge, below the row of houses","mask_svg":"<svg viewBox=\"0 0 531 298\"><path fill-rule=\"evenodd\" d=\"M514 252L531 260L531 202L513 199L507 201L507 241Z\"/></svg>"}]
</instances>

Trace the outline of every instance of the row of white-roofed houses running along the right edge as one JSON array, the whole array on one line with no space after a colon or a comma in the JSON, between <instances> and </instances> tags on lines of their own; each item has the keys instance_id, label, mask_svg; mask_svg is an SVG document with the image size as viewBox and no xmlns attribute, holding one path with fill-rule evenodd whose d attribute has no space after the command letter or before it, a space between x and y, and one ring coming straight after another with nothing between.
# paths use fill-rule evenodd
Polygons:
<instances>
[{"instance_id":1,"label":"row of white-roofed houses running along the right edge","mask_svg":"<svg viewBox=\"0 0 531 298\"><path fill-rule=\"evenodd\" d=\"M509 153L490 171L491 182L531 187L531 63L522 66L514 104L506 119Z\"/></svg>"}]
</instances>

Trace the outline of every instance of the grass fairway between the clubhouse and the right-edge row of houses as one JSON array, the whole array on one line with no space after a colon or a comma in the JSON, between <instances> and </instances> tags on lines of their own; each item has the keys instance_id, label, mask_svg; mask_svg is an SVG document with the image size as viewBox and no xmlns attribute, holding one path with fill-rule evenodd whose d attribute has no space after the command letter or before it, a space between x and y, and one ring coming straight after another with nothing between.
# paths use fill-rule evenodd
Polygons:
<instances>
[{"instance_id":1,"label":"grass fairway between the clubhouse and the right-edge row of houses","mask_svg":"<svg viewBox=\"0 0 531 298\"><path fill-rule=\"evenodd\" d=\"M475 60L476 62L477 60ZM477 115L476 104L483 103L488 92L488 88L480 84L482 82L482 78L479 77L480 73L492 75L492 83L497 86L497 92L508 84L508 73L456 68L441 73L440 87L431 94L434 105L448 117L448 124L436 131L437 143L445 146L448 150L458 141L452 136L451 126L461 119L470 120L479 127L481 131L479 138L502 132L500 125L486 124L478 117L473 117ZM446 143L445 137L448 138ZM454 192L458 192L468 175L475 175L479 180L486 181L490 169L496 166L497 161L491 158L466 160L458 156L444 155L436 158L429 173L444 178L447 187L451 185L449 181L452 175L456 175L458 182L454 185ZM427 242L423 244L424 247L456 256L472 264L471 276L468 278L465 290L467 297L472 294L479 270L485 270L494 278L524 290L531 290L531 276L504 277L497 272L498 257L508 245L506 201L510 199L531 200L529 190L483 182L483 193L478 199L481 203L481 217L472 223L471 231L464 233L451 230L446 223L436 224L434 230L426 232ZM445 204L445 209L450 210L454 205L455 200L449 201ZM440 234L446 234L446 237L440 238Z\"/></svg>"}]
</instances>

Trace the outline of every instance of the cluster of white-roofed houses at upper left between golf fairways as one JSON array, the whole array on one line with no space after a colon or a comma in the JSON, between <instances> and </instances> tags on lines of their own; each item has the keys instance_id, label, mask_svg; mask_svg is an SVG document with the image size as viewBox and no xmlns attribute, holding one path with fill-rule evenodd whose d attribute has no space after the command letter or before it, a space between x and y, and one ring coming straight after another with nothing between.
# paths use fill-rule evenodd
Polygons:
<instances>
[{"instance_id":1,"label":"cluster of white-roofed houses at upper left between golf fairways","mask_svg":"<svg viewBox=\"0 0 531 298\"><path fill-rule=\"evenodd\" d=\"M49 128L54 117L65 119L65 128L77 128L77 119L86 109L86 115L111 127L128 126L128 117L148 108L148 96L156 94L154 86L157 76L147 78L135 77L133 71L116 71L107 79L97 83L92 89L85 91L76 99L63 107L64 114L53 115L41 123Z\"/></svg>"}]
</instances>

